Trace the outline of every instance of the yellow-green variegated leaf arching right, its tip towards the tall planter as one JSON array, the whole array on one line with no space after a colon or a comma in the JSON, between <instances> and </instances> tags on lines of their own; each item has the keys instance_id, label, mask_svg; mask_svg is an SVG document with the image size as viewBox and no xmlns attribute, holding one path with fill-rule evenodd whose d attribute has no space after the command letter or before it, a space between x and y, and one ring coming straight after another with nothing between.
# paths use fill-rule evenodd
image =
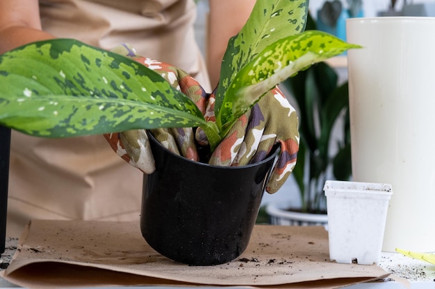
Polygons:
<instances>
[{"instance_id":1,"label":"yellow-green variegated leaf arching right, its tip towards the tall planter","mask_svg":"<svg viewBox=\"0 0 435 289\"><path fill-rule=\"evenodd\" d=\"M358 45L315 30L308 30L270 44L239 71L223 100L222 129L249 110L258 99L279 82L311 64L321 62Z\"/></svg>"}]
</instances>

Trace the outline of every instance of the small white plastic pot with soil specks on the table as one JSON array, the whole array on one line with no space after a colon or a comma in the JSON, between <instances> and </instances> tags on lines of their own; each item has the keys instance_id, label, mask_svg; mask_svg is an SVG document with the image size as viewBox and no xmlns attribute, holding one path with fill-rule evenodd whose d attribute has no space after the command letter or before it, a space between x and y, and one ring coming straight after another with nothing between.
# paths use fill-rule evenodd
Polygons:
<instances>
[{"instance_id":1,"label":"small white plastic pot with soil specks on the table","mask_svg":"<svg viewBox=\"0 0 435 289\"><path fill-rule=\"evenodd\" d=\"M327 181L329 259L337 263L379 263L390 184Z\"/></svg>"}]
</instances>

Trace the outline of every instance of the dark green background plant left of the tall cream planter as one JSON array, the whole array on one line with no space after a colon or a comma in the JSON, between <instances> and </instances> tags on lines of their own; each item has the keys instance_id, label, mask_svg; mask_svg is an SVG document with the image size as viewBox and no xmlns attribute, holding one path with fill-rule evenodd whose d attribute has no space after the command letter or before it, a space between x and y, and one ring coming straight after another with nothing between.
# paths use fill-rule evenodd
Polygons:
<instances>
[{"instance_id":1,"label":"dark green background plant left of the tall cream planter","mask_svg":"<svg viewBox=\"0 0 435 289\"><path fill-rule=\"evenodd\" d=\"M315 28L309 16L306 30ZM320 62L282 85L291 92L299 115L299 153L292 174L301 196L301 209L324 212L323 184L327 177L347 180L352 175L347 81L339 84L336 71ZM340 119L343 122L338 122ZM337 123L342 127L336 130L340 137L336 152L331 154L331 137Z\"/></svg>"}]
</instances>

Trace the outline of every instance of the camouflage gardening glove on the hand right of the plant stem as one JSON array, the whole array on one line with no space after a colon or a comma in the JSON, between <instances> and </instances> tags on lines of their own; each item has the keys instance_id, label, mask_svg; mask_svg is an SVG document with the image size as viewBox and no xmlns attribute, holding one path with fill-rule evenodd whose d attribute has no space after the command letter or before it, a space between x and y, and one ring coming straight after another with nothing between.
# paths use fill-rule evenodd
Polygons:
<instances>
[{"instance_id":1,"label":"camouflage gardening glove on the hand right of the plant stem","mask_svg":"<svg viewBox=\"0 0 435 289\"><path fill-rule=\"evenodd\" d=\"M214 96L212 95L211 98ZM207 120L214 120L213 100L209 100ZM270 175L266 191L276 193L286 182L296 164L299 149L298 121L295 109L278 87L263 96L254 108L244 114L231 128L213 152L209 164L217 166L245 166L265 159L275 144L281 152ZM206 145L202 130L197 141Z\"/></svg>"}]
</instances>

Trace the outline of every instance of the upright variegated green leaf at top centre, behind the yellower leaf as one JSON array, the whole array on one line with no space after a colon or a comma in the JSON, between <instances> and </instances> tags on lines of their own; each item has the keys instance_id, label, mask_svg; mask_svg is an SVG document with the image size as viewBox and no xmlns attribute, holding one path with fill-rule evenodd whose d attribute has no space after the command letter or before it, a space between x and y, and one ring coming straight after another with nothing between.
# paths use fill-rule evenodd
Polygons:
<instances>
[{"instance_id":1,"label":"upright variegated green leaf at top centre, behind the yellower leaf","mask_svg":"<svg viewBox=\"0 0 435 289\"><path fill-rule=\"evenodd\" d=\"M224 95L240 69L275 41L302 33L308 14L306 0L257 0L240 33L229 41L216 91L215 115L220 125ZM227 105L227 104L226 104Z\"/></svg>"}]
</instances>

